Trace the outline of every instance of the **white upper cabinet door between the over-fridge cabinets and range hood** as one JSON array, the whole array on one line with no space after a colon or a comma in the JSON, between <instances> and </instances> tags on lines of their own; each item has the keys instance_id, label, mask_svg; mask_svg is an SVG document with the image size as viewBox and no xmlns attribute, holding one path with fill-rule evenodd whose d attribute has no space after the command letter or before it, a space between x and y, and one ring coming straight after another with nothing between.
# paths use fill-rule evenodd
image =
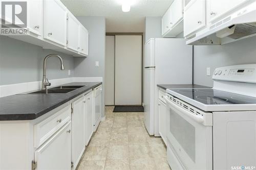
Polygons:
<instances>
[{"instance_id":1,"label":"white upper cabinet door between the over-fridge cabinets and range hood","mask_svg":"<svg viewBox=\"0 0 256 170\"><path fill-rule=\"evenodd\" d=\"M206 25L205 0L191 0L184 9L184 36L187 36Z\"/></svg>"}]
</instances>

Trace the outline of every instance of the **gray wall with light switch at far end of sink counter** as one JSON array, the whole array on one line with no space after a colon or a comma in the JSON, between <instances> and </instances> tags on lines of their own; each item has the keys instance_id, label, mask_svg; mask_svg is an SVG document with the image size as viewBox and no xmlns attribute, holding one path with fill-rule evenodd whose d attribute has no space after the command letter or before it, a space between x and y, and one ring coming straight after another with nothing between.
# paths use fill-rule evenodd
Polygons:
<instances>
[{"instance_id":1,"label":"gray wall with light switch at far end of sink counter","mask_svg":"<svg viewBox=\"0 0 256 170\"><path fill-rule=\"evenodd\" d=\"M104 72L105 72L105 18L101 16L77 16L89 32L89 55L74 59L75 77L102 77L102 117L104 117ZM99 61L99 67L95 67Z\"/></svg>"}]
</instances>

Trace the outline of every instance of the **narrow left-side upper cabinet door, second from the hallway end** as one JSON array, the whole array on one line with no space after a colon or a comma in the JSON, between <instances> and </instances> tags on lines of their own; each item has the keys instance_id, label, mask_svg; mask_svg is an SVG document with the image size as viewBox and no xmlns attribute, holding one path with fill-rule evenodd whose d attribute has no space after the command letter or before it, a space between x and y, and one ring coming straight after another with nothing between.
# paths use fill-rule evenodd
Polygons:
<instances>
[{"instance_id":1,"label":"narrow left-side upper cabinet door, second from the hallway end","mask_svg":"<svg viewBox=\"0 0 256 170\"><path fill-rule=\"evenodd\" d=\"M67 47L79 52L79 27L80 22L70 12L68 14Z\"/></svg>"}]
</instances>

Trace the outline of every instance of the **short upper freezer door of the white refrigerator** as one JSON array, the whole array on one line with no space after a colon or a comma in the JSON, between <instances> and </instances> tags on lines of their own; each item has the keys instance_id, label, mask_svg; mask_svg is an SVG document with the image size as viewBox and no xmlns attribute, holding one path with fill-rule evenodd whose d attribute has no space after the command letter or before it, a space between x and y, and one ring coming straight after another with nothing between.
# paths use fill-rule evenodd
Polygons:
<instances>
[{"instance_id":1,"label":"short upper freezer door of the white refrigerator","mask_svg":"<svg viewBox=\"0 0 256 170\"><path fill-rule=\"evenodd\" d=\"M155 50L154 45L155 39L151 38L145 43L145 59L144 67L154 67L155 66Z\"/></svg>"}]
</instances>

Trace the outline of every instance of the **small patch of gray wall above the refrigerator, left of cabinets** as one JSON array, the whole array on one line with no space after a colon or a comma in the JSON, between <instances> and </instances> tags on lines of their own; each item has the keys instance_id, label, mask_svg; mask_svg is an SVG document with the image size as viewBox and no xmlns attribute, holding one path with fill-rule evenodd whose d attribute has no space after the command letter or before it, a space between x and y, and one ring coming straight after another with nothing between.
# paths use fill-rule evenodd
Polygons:
<instances>
[{"instance_id":1,"label":"small patch of gray wall above the refrigerator, left of cabinets","mask_svg":"<svg viewBox=\"0 0 256 170\"><path fill-rule=\"evenodd\" d=\"M162 37L162 17L146 16L145 17L145 42L150 38Z\"/></svg>"}]
</instances>

